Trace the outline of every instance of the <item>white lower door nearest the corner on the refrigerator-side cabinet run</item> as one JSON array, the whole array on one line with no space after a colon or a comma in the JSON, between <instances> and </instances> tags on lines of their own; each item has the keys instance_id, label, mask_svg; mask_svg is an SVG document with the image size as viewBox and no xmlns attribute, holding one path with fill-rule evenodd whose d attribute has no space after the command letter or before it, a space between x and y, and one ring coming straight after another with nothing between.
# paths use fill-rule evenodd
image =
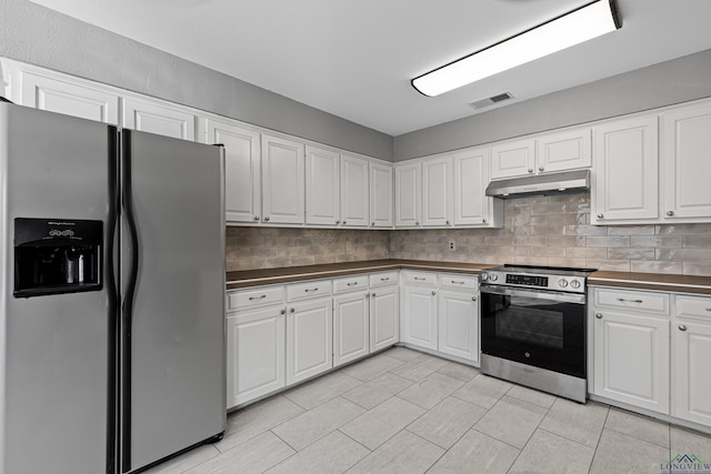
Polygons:
<instances>
[{"instance_id":1,"label":"white lower door nearest the corner on the refrigerator-side cabinet run","mask_svg":"<svg viewBox=\"0 0 711 474\"><path fill-rule=\"evenodd\" d=\"M370 352L400 342L400 291L398 286L372 289L370 294Z\"/></svg>"}]
</instances>

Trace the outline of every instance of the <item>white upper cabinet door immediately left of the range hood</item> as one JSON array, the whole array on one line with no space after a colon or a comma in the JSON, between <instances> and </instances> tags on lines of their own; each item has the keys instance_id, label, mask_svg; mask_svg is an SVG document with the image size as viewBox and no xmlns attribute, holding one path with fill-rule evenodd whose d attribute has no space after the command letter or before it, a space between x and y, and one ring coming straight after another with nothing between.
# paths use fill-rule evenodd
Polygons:
<instances>
[{"instance_id":1,"label":"white upper cabinet door immediately left of the range hood","mask_svg":"<svg viewBox=\"0 0 711 474\"><path fill-rule=\"evenodd\" d=\"M484 224L489 219L489 149L454 155L454 225Z\"/></svg>"}]
</instances>

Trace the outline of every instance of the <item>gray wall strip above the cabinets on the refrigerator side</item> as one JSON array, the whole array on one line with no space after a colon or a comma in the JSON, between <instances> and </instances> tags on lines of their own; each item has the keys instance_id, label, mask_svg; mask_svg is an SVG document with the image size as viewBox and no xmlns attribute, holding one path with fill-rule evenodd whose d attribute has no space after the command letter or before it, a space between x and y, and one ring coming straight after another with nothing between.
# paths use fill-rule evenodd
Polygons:
<instances>
[{"instance_id":1,"label":"gray wall strip above the cabinets on the refrigerator side","mask_svg":"<svg viewBox=\"0 0 711 474\"><path fill-rule=\"evenodd\" d=\"M392 160L392 137L30 3L0 1L0 56Z\"/></svg>"}]
</instances>

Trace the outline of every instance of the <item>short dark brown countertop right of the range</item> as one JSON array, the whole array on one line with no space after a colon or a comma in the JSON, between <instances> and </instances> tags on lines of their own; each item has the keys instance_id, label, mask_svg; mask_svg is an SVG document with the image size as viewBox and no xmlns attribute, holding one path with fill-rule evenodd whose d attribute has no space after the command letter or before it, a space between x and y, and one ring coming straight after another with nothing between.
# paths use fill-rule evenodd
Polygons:
<instances>
[{"instance_id":1,"label":"short dark brown countertop right of the range","mask_svg":"<svg viewBox=\"0 0 711 474\"><path fill-rule=\"evenodd\" d=\"M588 284L591 286L622 286L673 293L711 294L711 276L594 272L588 278Z\"/></svg>"}]
</instances>

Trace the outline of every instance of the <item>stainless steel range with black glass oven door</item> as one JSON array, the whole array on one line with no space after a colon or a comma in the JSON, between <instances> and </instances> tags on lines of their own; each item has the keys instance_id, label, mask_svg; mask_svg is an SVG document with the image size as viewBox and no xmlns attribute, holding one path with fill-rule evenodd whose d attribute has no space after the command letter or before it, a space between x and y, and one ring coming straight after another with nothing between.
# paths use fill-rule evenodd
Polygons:
<instances>
[{"instance_id":1,"label":"stainless steel range with black glass oven door","mask_svg":"<svg viewBox=\"0 0 711 474\"><path fill-rule=\"evenodd\" d=\"M585 403L592 272L503 265L481 273L481 371Z\"/></svg>"}]
</instances>

